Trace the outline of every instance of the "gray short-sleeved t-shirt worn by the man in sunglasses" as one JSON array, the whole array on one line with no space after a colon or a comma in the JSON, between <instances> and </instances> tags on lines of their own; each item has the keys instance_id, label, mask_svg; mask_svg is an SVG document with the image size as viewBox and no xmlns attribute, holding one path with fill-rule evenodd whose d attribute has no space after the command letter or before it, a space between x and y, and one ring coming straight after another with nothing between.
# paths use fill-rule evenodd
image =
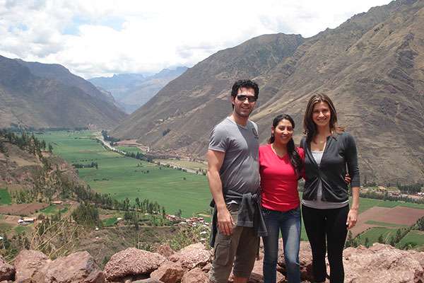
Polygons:
<instances>
[{"instance_id":1,"label":"gray short-sleeved t-shirt worn by the man in sunglasses","mask_svg":"<svg viewBox=\"0 0 424 283\"><path fill-rule=\"evenodd\" d=\"M254 122L247 121L246 127L243 127L226 117L213 128L208 148L225 152L219 171L224 195L226 190L241 194L258 192L259 137Z\"/></svg>"}]
</instances>

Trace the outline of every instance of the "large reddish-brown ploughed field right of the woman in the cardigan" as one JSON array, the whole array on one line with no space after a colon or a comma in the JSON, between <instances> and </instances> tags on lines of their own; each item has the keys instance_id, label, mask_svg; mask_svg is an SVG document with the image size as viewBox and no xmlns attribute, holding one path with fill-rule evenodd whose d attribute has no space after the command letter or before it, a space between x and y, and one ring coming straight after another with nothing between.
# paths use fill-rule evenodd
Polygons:
<instances>
[{"instance_id":1,"label":"large reddish-brown ploughed field right of the woman in the cardigan","mask_svg":"<svg viewBox=\"0 0 424 283\"><path fill-rule=\"evenodd\" d=\"M415 209L409 207L371 207L365 212L359 214L358 224L351 230L353 236L363 231L378 227L378 225L366 224L367 221L378 221L390 224L412 226L418 219L424 216L424 209Z\"/></svg>"}]
</instances>

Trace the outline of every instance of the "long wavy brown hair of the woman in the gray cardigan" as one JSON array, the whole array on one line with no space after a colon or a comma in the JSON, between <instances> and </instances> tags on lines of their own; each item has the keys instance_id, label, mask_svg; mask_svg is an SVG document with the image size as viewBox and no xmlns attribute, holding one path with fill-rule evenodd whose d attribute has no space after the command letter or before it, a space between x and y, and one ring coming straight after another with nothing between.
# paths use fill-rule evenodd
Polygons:
<instances>
[{"instance_id":1,"label":"long wavy brown hair of the woman in the gray cardigan","mask_svg":"<svg viewBox=\"0 0 424 283\"><path fill-rule=\"evenodd\" d=\"M344 132L344 127L337 125L337 112L334 108L333 101L326 96L325 94L314 94L311 96L310 100L307 102L305 116L303 117L303 133L306 134L306 142L310 144L312 139L314 139L317 134L317 126L312 120L312 112L314 111L314 105L320 102L324 102L329 105L330 108L330 132L331 134L336 134Z\"/></svg>"}]
</instances>

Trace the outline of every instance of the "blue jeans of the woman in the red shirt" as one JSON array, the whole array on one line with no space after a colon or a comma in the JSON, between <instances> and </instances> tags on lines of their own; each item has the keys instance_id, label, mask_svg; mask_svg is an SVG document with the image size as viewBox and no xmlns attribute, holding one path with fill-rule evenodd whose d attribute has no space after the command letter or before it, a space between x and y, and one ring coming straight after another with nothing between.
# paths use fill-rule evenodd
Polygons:
<instances>
[{"instance_id":1,"label":"blue jeans of the woman in the red shirt","mask_svg":"<svg viewBox=\"0 0 424 283\"><path fill-rule=\"evenodd\" d=\"M278 236L283 236L285 269L288 283L300 283L300 207L288 212L278 212L262 207L268 236L264 240L264 283L276 282Z\"/></svg>"}]
</instances>

